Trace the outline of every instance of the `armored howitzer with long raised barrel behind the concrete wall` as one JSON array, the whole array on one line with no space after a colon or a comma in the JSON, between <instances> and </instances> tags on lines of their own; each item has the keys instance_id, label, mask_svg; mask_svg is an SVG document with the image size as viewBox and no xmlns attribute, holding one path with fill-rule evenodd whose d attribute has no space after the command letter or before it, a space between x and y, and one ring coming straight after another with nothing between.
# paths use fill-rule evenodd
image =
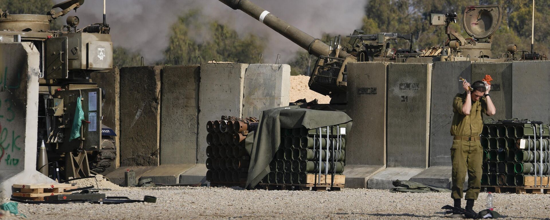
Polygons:
<instances>
[{"instance_id":1,"label":"armored howitzer with long raised barrel behind the concrete wall","mask_svg":"<svg viewBox=\"0 0 550 220\"><path fill-rule=\"evenodd\" d=\"M492 35L498 29L502 20L500 5L471 5L464 9L463 24L470 38L465 38L454 30L450 24L456 23L457 14L431 14L431 25L444 25L448 39L442 46L426 48L417 52L412 50L411 34L397 32L365 34L362 30L354 30L347 36L351 48L340 45L341 36L335 37L329 45L319 38L312 37L296 27L277 18L267 10L249 0L219 0L229 7L242 10L261 23L271 27L279 34L304 48L310 54L318 57L309 81L310 89L322 95L328 95L331 104L346 103L346 63L348 62L406 62L432 63L436 61L474 61L474 62L504 62L525 59L544 59L534 52L516 57L515 45L509 45L503 57L491 54ZM398 40L410 41L410 47L395 49Z\"/></svg>"}]
</instances>

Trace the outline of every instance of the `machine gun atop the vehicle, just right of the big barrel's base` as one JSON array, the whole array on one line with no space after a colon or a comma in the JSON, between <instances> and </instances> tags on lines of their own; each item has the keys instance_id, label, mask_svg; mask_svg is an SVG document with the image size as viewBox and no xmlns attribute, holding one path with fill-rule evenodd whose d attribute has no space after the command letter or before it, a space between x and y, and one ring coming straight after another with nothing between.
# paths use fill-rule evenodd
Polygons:
<instances>
[{"instance_id":1,"label":"machine gun atop the vehicle, just right of the big barrel's base","mask_svg":"<svg viewBox=\"0 0 550 220\"><path fill-rule=\"evenodd\" d=\"M351 51L349 53L359 57L359 62L374 61L375 57L393 56L394 54L407 54L408 56L418 56L421 54L412 50L412 33L408 35L399 34L398 32L373 35L364 35L363 33L362 30L355 30L353 34L346 36L350 37L349 44L351 45ZM393 41L393 43L397 44L398 38L403 38L410 42L409 50L390 48L390 42ZM367 44L366 41L375 42Z\"/></svg>"}]
</instances>

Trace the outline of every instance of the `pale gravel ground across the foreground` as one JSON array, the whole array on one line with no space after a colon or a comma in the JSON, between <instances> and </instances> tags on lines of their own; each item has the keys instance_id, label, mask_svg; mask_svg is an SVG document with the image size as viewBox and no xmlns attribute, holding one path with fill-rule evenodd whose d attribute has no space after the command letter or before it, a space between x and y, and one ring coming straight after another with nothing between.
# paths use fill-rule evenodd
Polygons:
<instances>
[{"instance_id":1,"label":"pale gravel ground across the foreground","mask_svg":"<svg viewBox=\"0 0 550 220\"><path fill-rule=\"evenodd\" d=\"M452 204L448 193L370 189L315 192L164 186L105 193L158 199L154 204L19 204L19 211L30 219L440 219L444 216L440 208ZM493 195L495 210L505 219L550 220L550 195ZM486 196L480 194L474 210L484 208Z\"/></svg>"}]
</instances>

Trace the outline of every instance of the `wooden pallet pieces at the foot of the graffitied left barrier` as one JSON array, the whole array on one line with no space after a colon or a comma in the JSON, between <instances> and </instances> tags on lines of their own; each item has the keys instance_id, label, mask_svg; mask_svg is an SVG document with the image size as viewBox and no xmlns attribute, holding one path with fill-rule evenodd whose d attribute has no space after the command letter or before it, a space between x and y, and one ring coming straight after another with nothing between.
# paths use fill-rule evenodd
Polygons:
<instances>
[{"instance_id":1,"label":"wooden pallet pieces at the foot of the graffitied left barrier","mask_svg":"<svg viewBox=\"0 0 550 220\"><path fill-rule=\"evenodd\" d=\"M12 197L16 199L44 201L45 196L65 195L65 190L76 189L71 184L13 184L15 191Z\"/></svg>"}]
</instances>

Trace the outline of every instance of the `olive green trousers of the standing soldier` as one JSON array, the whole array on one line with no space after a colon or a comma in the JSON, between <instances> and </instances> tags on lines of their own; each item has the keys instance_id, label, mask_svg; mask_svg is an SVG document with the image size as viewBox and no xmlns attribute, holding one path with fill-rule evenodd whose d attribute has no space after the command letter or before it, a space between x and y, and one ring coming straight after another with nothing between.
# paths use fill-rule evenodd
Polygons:
<instances>
[{"instance_id":1,"label":"olive green trousers of the standing soldier","mask_svg":"<svg viewBox=\"0 0 550 220\"><path fill-rule=\"evenodd\" d=\"M453 199L462 199L464 180L468 175L466 199L477 200L481 189L481 163L483 149L480 141L453 140L450 148L450 157L453 162L451 196Z\"/></svg>"}]
</instances>

